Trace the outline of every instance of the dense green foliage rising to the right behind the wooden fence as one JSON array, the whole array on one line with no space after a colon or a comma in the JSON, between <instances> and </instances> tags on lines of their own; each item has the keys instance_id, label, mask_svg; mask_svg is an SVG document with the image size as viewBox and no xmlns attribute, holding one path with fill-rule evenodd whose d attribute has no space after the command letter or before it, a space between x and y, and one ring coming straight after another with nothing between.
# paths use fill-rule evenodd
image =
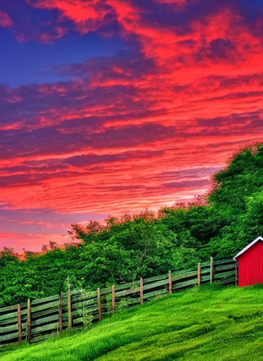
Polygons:
<instances>
[{"instance_id":1,"label":"dense green foliage rising to the right behind the wooden fence","mask_svg":"<svg viewBox=\"0 0 263 361\"><path fill-rule=\"evenodd\" d=\"M263 145L248 146L212 178L209 194L187 206L71 226L79 244L43 252L0 252L0 307L59 293L127 283L233 257L263 234Z\"/></svg>"}]
</instances>

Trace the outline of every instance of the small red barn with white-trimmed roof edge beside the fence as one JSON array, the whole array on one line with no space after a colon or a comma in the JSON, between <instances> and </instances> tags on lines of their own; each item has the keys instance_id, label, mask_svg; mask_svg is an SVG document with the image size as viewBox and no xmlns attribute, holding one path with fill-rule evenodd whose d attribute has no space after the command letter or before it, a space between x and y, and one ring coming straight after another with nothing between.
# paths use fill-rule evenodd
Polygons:
<instances>
[{"instance_id":1,"label":"small red barn with white-trimmed roof edge beside the fence","mask_svg":"<svg viewBox=\"0 0 263 361\"><path fill-rule=\"evenodd\" d=\"M238 286L263 283L263 238L257 237L235 255L238 262Z\"/></svg>"}]
</instances>

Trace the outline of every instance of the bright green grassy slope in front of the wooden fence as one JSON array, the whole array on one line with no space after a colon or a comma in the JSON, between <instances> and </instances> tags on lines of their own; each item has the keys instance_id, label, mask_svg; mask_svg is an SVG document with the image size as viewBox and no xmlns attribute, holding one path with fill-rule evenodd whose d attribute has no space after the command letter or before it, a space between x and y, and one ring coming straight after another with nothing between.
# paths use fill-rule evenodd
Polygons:
<instances>
[{"instance_id":1,"label":"bright green grassy slope in front of the wooden fence","mask_svg":"<svg viewBox=\"0 0 263 361\"><path fill-rule=\"evenodd\" d=\"M1 361L263 360L263 285L192 288L0 353Z\"/></svg>"}]
</instances>

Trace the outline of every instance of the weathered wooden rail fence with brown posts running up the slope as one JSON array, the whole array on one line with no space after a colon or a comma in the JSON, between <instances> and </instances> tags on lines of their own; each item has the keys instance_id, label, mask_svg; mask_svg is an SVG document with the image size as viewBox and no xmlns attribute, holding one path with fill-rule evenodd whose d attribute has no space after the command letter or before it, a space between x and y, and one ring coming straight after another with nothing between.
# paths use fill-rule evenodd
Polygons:
<instances>
[{"instance_id":1,"label":"weathered wooden rail fence with brown posts running up the slope","mask_svg":"<svg viewBox=\"0 0 263 361\"><path fill-rule=\"evenodd\" d=\"M72 327L82 327L85 317L92 322L115 313L121 307L131 307L156 297L217 281L221 285L235 284L236 263L233 259L199 263L197 267L169 271L168 274L145 278L126 285L60 293L27 303L0 308L0 345L38 342Z\"/></svg>"}]
</instances>

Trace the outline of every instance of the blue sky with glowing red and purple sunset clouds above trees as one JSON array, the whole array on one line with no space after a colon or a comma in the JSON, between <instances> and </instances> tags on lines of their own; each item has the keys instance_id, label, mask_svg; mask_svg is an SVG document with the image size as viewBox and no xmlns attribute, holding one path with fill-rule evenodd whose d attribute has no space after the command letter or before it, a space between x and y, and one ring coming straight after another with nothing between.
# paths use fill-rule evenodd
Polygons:
<instances>
[{"instance_id":1,"label":"blue sky with glowing red and purple sunset clouds above trees","mask_svg":"<svg viewBox=\"0 0 263 361\"><path fill-rule=\"evenodd\" d=\"M1 0L0 249L188 202L262 140L262 0Z\"/></svg>"}]
</instances>

